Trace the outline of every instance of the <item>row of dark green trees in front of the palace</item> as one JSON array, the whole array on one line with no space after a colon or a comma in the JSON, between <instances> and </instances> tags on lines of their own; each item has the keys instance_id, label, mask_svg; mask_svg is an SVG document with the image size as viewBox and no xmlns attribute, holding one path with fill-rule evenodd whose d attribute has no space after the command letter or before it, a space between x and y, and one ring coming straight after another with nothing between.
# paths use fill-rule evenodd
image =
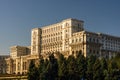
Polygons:
<instances>
[{"instance_id":1,"label":"row of dark green trees in front of the palace","mask_svg":"<svg viewBox=\"0 0 120 80\"><path fill-rule=\"evenodd\" d=\"M31 60L28 80L118 80L120 79L120 55L112 59L84 57L81 53L65 58L51 54L40 58L39 66Z\"/></svg>"}]
</instances>

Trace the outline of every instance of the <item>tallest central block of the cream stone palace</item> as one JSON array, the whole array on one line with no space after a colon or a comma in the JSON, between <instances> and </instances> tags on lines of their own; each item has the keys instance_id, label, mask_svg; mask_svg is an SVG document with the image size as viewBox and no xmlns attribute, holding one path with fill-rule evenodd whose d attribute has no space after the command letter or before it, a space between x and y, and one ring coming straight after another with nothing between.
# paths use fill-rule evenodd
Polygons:
<instances>
[{"instance_id":1,"label":"tallest central block of the cream stone palace","mask_svg":"<svg viewBox=\"0 0 120 80\"><path fill-rule=\"evenodd\" d=\"M83 31L83 21L65 19L59 23L34 28L31 32L31 54L49 54L53 52L71 54L70 43L73 33Z\"/></svg>"}]
</instances>

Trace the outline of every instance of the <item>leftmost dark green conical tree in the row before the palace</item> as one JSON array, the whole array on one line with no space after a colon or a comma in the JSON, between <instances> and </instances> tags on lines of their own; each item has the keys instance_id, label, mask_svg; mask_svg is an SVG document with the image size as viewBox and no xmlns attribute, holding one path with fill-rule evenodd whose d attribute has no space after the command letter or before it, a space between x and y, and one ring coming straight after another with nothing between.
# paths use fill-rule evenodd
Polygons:
<instances>
[{"instance_id":1,"label":"leftmost dark green conical tree in the row before the palace","mask_svg":"<svg viewBox=\"0 0 120 80\"><path fill-rule=\"evenodd\" d=\"M38 68L35 66L33 60L31 60L28 70L28 80L39 80Z\"/></svg>"}]
</instances>

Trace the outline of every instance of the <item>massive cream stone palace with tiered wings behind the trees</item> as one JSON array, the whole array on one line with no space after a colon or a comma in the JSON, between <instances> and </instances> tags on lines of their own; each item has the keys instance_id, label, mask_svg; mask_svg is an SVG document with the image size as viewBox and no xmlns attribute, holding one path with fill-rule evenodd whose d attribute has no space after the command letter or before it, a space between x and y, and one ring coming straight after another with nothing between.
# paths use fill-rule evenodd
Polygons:
<instances>
[{"instance_id":1,"label":"massive cream stone palace with tiered wings behind the trees","mask_svg":"<svg viewBox=\"0 0 120 80\"><path fill-rule=\"evenodd\" d=\"M31 46L13 46L6 59L8 74L25 74L30 60L39 63L39 58L60 52L65 57L81 53L85 57L111 58L120 53L120 37L89 32L84 21L66 19L59 23L34 28L31 31Z\"/></svg>"}]
</instances>

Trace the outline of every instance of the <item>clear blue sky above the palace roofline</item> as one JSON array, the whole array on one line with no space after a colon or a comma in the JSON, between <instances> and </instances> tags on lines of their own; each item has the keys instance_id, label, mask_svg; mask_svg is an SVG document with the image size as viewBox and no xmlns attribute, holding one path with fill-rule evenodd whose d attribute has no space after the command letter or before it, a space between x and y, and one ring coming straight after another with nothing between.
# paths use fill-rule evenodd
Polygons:
<instances>
[{"instance_id":1,"label":"clear blue sky above the palace roofline","mask_svg":"<svg viewBox=\"0 0 120 80\"><path fill-rule=\"evenodd\" d=\"M84 21L87 31L120 37L120 0L0 0L0 55L31 45L31 29L67 18Z\"/></svg>"}]
</instances>

